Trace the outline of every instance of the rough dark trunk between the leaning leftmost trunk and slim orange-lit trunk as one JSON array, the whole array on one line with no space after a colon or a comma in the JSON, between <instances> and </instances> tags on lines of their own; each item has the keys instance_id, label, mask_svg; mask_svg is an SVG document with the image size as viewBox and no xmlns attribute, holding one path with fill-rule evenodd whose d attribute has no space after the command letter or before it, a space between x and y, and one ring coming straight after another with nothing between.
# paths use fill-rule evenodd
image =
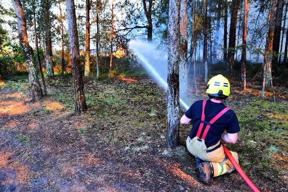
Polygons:
<instances>
[{"instance_id":1,"label":"rough dark trunk between the leaning leftmost trunk and slim orange-lit trunk","mask_svg":"<svg viewBox=\"0 0 288 192\"><path fill-rule=\"evenodd\" d=\"M66 0L66 12L72 65L71 68L74 84L74 107L75 112L81 113L87 110L87 106L84 95L84 82L81 74L78 31L74 0Z\"/></svg>"}]
</instances>

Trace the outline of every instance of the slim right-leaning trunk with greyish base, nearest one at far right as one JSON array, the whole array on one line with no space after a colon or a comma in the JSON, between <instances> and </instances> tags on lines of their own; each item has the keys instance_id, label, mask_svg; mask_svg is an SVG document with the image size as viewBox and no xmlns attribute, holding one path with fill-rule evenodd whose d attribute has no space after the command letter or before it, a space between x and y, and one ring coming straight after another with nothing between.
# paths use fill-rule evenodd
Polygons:
<instances>
[{"instance_id":1,"label":"slim right-leaning trunk with greyish base, nearest one at far right","mask_svg":"<svg viewBox=\"0 0 288 192\"><path fill-rule=\"evenodd\" d=\"M271 62L273 54L273 36L274 36L274 21L275 21L275 6L276 0L270 1L270 9L267 16L267 35L263 62L263 83L261 97L265 97L265 86L272 82Z\"/></svg>"}]
</instances>

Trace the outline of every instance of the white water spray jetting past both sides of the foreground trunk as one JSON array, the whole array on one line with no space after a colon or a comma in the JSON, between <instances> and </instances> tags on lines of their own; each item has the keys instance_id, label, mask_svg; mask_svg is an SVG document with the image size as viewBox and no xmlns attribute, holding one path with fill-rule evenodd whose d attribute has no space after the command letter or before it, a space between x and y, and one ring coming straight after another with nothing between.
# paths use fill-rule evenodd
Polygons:
<instances>
[{"instance_id":1,"label":"white water spray jetting past both sides of the foreground trunk","mask_svg":"<svg viewBox=\"0 0 288 192\"><path fill-rule=\"evenodd\" d=\"M129 41L129 47L136 55L138 62L162 88L167 90L167 51L158 49L156 43L140 40ZM188 87L183 87L181 84L183 83L180 82L180 92L186 92L182 90L187 90ZM184 102L184 98L187 98L187 95L180 95L180 104L187 110L190 103Z\"/></svg>"}]
</instances>

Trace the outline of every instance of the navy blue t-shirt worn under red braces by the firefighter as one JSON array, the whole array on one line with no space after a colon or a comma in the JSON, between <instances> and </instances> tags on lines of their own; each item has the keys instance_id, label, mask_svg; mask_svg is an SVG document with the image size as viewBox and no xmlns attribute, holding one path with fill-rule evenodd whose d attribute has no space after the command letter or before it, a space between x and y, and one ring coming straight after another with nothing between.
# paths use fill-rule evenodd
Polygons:
<instances>
[{"instance_id":1,"label":"navy blue t-shirt worn under red braces by the firefighter","mask_svg":"<svg viewBox=\"0 0 288 192\"><path fill-rule=\"evenodd\" d=\"M185 113L185 116L192 119L193 123L193 127L189 134L191 139L197 135L197 131L201 123L202 104L203 100L195 102ZM226 108L226 106L223 103L215 103L207 100L205 106L205 121L209 122L224 108ZM204 124L202 128L202 132L200 134L201 136L205 128L206 124ZM209 148L210 146L215 145L221 139L224 130L226 130L227 133L237 133L240 131L236 114L231 109L211 125L205 138L206 147Z\"/></svg>"}]
</instances>

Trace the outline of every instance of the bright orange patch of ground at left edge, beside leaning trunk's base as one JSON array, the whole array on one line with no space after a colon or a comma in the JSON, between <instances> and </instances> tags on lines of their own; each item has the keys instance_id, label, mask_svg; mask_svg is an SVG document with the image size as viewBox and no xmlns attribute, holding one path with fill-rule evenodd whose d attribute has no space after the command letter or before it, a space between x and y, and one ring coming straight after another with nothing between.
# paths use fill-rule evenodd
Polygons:
<instances>
[{"instance_id":1,"label":"bright orange patch of ground at left edge, beside leaning trunk's base","mask_svg":"<svg viewBox=\"0 0 288 192\"><path fill-rule=\"evenodd\" d=\"M24 102L3 101L0 102L0 114L19 115L27 113L29 109Z\"/></svg>"}]
</instances>

